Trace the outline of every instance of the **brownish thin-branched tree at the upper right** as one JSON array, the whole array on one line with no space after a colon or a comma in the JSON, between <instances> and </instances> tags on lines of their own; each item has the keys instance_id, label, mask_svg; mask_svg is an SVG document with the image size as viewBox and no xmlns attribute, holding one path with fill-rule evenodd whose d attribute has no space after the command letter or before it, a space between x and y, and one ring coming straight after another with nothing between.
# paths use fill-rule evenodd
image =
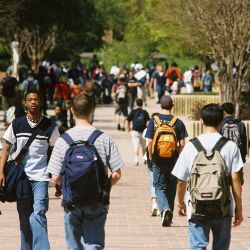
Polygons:
<instances>
[{"instance_id":1,"label":"brownish thin-branched tree at the upper right","mask_svg":"<svg viewBox=\"0 0 250 250\"><path fill-rule=\"evenodd\" d=\"M235 103L238 117L241 92L244 84L250 85L250 2L185 0L184 5L182 0L182 4L189 24L200 33L200 44L208 45L207 54L218 64L222 101Z\"/></svg>"}]
</instances>

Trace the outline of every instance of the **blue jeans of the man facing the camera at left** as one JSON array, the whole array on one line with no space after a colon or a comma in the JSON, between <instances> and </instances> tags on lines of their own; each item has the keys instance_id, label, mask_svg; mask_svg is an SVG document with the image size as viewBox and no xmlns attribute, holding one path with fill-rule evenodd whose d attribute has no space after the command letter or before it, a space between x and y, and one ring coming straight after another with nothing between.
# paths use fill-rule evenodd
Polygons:
<instances>
[{"instance_id":1,"label":"blue jeans of the man facing the camera at left","mask_svg":"<svg viewBox=\"0 0 250 250\"><path fill-rule=\"evenodd\" d=\"M33 198L17 200L21 250L49 250L47 218L49 196L47 181L30 181Z\"/></svg>"}]
</instances>

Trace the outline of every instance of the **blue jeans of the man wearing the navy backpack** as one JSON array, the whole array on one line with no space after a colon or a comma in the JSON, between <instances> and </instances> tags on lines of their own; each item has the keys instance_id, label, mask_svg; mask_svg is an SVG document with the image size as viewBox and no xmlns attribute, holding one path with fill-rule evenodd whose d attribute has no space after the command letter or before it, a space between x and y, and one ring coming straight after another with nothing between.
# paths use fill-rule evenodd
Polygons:
<instances>
[{"instance_id":1,"label":"blue jeans of the man wearing the navy backpack","mask_svg":"<svg viewBox=\"0 0 250 250\"><path fill-rule=\"evenodd\" d=\"M64 209L64 228L69 250L104 249L107 207L95 203Z\"/></svg>"}]
</instances>

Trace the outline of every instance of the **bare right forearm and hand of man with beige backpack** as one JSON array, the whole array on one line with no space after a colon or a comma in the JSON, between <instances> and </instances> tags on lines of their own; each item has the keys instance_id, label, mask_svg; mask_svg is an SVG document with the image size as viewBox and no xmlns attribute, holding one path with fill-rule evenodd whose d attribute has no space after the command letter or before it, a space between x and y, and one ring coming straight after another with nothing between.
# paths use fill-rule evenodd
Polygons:
<instances>
[{"instance_id":1,"label":"bare right forearm and hand of man with beige backpack","mask_svg":"<svg viewBox=\"0 0 250 250\"><path fill-rule=\"evenodd\" d=\"M242 186L240 183L240 179L238 173L231 173L232 179L232 192L235 202L235 218L234 218L234 226L239 226L243 221L242 216Z\"/></svg>"}]
</instances>

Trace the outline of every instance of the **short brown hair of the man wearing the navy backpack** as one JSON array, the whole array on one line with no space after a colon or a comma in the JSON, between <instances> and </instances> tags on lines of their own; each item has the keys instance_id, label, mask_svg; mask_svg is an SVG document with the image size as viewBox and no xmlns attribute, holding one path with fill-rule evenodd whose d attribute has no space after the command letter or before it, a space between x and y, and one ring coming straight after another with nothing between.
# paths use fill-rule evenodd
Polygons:
<instances>
[{"instance_id":1,"label":"short brown hair of the man wearing the navy backpack","mask_svg":"<svg viewBox=\"0 0 250 250\"><path fill-rule=\"evenodd\" d=\"M88 94L80 93L73 98L72 108L76 118L86 118L95 107Z\"/></svg>"}]
</instances>

